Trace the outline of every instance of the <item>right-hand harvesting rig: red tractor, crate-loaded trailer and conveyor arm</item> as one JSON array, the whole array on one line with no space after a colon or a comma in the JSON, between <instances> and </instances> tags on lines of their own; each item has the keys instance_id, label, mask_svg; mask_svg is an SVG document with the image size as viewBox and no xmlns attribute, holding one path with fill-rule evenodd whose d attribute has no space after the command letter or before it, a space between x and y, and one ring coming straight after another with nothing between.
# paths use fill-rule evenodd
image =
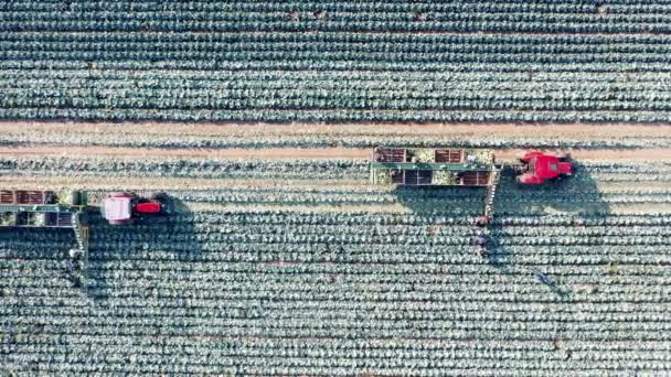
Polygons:
<instances>
[{"instance_id":1,"label":"right-hand harvesting rig: red tractor, crate-loaded trailer and conveyor arm","mask_svg":"<svg viewBox=\"0 0 671 377\"><path fill-rule=\"evenodd\" d=\"M484 211L475 224L487 227L494 215L494 198L503 172L512 172L522 185L539 185L573 174L566 153L525 151L516 163L497 163L491 149L385 148L373 149L371 182L403 187L486 187ZM477 239L481 252L488 237Z\"/></svg>"}]
</instances>

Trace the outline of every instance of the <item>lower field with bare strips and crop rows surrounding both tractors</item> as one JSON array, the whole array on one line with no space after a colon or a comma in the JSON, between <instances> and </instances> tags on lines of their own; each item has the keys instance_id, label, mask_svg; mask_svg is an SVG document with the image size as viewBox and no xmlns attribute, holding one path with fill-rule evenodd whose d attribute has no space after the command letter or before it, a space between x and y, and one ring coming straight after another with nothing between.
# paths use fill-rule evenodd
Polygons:
<instances>
[{"instance_id":1,"label":"lower field with bare strips and crop rows surrounding both tractors","mask_svg":"<svg viewBox=\"0 0 671 377\"><path fill-rule=\"evenodd\" d=\"M0 126L2 188L164 190L179 204L167 224L93 215L85 290L63 272L72 231L0 231L8 373L671 369L669 128ZM483 191L369 183L370 147L402 140L480 142L503 160L561 147L577 171L535 190L504 176L483 261Z\"/></svg>"}]
</instances>

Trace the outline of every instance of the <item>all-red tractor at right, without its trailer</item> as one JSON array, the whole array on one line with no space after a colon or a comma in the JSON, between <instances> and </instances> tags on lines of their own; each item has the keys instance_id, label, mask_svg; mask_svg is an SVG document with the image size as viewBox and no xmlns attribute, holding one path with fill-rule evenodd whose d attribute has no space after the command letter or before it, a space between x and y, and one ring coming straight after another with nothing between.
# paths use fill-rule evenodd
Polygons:
<instances>
[{"instance_id":1,"label":"all-red tractor at right, without its trailer","mask_svg":"<svg viewBox=\"0 0 671 377\"><path fill-rule=\"evenodd\" d=\"M541 151L525 152L518 173L518 183L541 184L548 180L562 179L573 174L573 164L568 162L568 154L553 155Z\"/></svg>"}]
</instances>

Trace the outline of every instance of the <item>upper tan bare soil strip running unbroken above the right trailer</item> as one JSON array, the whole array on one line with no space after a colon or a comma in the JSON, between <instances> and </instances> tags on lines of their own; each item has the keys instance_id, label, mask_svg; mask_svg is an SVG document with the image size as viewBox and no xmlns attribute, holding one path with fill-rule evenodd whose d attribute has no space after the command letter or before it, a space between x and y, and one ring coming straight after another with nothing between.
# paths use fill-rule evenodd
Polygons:
<instances>
[{"instance_id":1,"label":"upper tan bare soil strip running unbroken above the right trailer","mask_svg":"<svg viewBox=\"0 0 671 377\"><path fill-rule=\"evenodd\" d=\"M199 136L226 137L244 136L402 136L402 134L446 134L482 138L579 138L582 140L607 140L622 138L671 137L670 125L636 123L569 123L569 125L482 125L482 123L171 123L171 122L33 122L0 121L2 133L10 134L138 134L147 136Z\"/></svg>"}]
</instances>

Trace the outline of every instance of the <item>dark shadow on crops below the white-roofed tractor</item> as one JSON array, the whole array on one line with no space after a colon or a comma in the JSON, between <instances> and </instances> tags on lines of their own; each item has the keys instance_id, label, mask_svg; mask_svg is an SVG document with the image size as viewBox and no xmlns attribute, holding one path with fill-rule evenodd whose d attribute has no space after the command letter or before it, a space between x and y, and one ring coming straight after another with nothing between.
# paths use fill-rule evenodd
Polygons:
<instances>
[{"instance_id":1,"label":"dark shadow on crops below the white-roofed tractor","mask_svg":"<svg viewBox=\"0 0 671 377\"><path fill-rule=\"evenodd\" d=\"M102 214L89 214L88 294L105 300L120 276L149 271L163 261L190 262L202 258L202 243L191 209L180 200L164 198L169 214L137 224L110 225ZM114 278L115 284L109 282ZM153 288L149 287L148 297ZM142 292L139 292L142 294Z\"/></svg>"}]
</instances>

